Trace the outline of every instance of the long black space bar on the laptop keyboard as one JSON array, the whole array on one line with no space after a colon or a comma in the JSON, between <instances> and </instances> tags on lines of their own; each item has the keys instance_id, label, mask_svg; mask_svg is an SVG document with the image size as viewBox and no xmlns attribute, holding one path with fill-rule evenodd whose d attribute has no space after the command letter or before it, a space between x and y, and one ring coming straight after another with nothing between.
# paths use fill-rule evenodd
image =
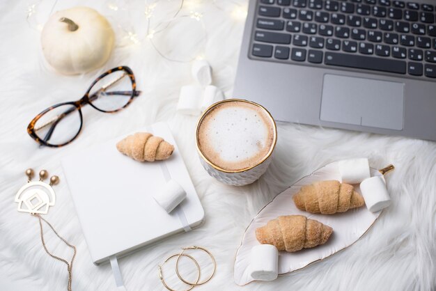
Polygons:
<instances>
[{"instance_id":1,"label":"long black space bar on the laptop keyboard","mask_svg":"<svg viewBox=\"0 0 436 291\"><path fill-rule=\"evenodd\" d=\"M405 61L392 60L390 58L374 58L372 56L361 56L359 54L325 52L324 63L326 65L346 68L392 72L396 74L406 73Z\"/></svg>"}]
</instances>

